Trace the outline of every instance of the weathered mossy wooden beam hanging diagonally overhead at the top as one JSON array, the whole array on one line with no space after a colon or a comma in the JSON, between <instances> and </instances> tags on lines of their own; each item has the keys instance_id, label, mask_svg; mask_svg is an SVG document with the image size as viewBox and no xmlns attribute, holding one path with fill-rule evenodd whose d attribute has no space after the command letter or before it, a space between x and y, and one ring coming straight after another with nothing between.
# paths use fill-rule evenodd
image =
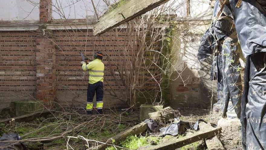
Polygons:
<instances>
[{"instance_id":1,"label":"weathered mossy wooden beam hanging diagonally overhead at the top","mask_svg":"<svg viewBox=\"0 0 266 150\"><path fill-rule=\"evenodd\" d=\"M169 0L121 0L118 6L100 17L93 26L93 35L100 35L128 22Z\"/></svg>"}]
</instances>

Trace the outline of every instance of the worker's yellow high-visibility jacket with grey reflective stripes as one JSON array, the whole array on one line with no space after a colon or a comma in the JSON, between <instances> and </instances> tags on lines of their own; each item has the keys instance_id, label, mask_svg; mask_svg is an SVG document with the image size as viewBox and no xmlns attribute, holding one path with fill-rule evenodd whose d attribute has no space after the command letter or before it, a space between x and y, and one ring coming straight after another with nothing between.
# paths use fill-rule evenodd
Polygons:
<instances>
[{"instance_id":1,"label":"worker's yellow high-visibility jacket with grey reflective stripes","mask_svg":"<svg viewBox=\"0 0 266 150\"><path fill-rule=\"evenodd\" d=\"M93 61L82 64L82 70L87 71L89 70L89 84L94 84L96 82L103 82L103 71L104 71L104 64L100 59L94 59Z\"/></svg>"}]
</instances>

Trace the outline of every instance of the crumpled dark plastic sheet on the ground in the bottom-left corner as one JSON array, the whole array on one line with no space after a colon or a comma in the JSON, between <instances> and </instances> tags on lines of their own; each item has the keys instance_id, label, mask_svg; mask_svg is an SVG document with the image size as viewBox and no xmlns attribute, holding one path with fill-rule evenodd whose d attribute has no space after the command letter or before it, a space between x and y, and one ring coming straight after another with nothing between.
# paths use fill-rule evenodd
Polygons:
<instances>
[{"instance_id":1,"label":"crumpled dark plastic sheet on the ground in the bottom-left corner","mask_svg":"<svg viewBox=\"0 0 266 150\"><path fill-rule=\"evenodd\" d=\"M20 136L17 133L9 133L9 134L4 133L0 138L0 141L17 141L17 140L20 140ZM15 143L13 145L11 144L13 143L0 142L0 147L7 146L6 148L1 148L0 150L24 150L24 145L21 142Z\"/></svg>"}]
</instances>

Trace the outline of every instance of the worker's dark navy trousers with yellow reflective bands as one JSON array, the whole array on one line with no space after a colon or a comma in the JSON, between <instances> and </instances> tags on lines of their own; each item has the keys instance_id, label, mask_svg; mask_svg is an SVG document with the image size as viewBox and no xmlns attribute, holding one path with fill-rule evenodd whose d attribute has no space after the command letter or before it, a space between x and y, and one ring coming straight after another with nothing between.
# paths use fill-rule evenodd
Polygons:
<instances>
[{"instance_id":1,"label":"worker's dark navy trousers with yellow reflective bands","mask_svg":"<svg viewBox=\"0 0 266 150\"><path fill-rule=\"evenodd\" d=\"M102 109L103 102L103 83L101 81L96 82L94 84L89 84L88 85L88 90L87 90L87 104L91 104L92 106L92 101L93 97L96 93L96 108L97 109Z\"/></svg>"}]
</instances>

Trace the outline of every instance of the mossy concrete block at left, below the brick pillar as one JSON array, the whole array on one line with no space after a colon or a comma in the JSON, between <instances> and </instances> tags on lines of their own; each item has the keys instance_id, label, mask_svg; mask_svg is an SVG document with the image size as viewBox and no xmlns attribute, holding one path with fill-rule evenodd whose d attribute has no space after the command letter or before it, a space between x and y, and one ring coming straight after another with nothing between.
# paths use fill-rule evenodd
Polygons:
<instances>
[{"instance_id":1,"label":"mossy concrete block at left, below the brick pillar","mask_svg":"<svg viewBox=\"0 0 266 150\"><path fill-rule=\"evenodd\" d=\"M36 111L41 111L43 109L43 101L30 101L30 102L12 102L11 112L15 116L21 116L30 114Z\"/></svg>"}]
</instances>

